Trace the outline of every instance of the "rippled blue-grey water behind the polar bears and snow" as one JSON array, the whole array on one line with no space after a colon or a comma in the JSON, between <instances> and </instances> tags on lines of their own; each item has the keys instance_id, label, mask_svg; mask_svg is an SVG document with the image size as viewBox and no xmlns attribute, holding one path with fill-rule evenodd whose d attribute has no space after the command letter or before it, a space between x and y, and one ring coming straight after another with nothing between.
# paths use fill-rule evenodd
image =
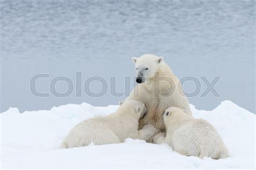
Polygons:
<instances>
[{"instance_id":1,"label":"rippled blue-grey water behind the polar bears and snow","mask_svg":"<svg viewBox=\"0 0 256 170\"><path fill-rule=\"evenodd\" d=\"M2 0L0 8L1 112L118 104L136 85L131 58L148 53L164 56L179 78L199 80L200 93L188 98L197 109L211 110L231 100L255 112L255 1ZM75 79L76 72L82 72L81 80ZM36 90L48 97L31 93L30 79L39 73L49 74L36 82ZM73 81L70 96L51 93L56 76ZM79 84L91 76L106 80L104 96L91 97L83 90L77 95ZM110 77L116 77L115 85ZM206 86L200 77L210 82L221 77L214 86L220 96L201 97ZM183 86L187 93L196 88L192 81ZM59 93L67 88L64 81L56 83ZM113 88L125 95L113 96ZM102 84L93 81L90 89L97 93Z\"/></svg>"}]
</instances>

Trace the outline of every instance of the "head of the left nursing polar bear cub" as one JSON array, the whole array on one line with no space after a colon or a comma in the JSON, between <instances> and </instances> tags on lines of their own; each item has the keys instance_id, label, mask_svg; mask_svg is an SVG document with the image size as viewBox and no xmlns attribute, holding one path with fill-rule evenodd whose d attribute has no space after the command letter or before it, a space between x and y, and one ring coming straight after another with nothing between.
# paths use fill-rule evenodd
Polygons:
<instances>
[{"instance_id":1,"label":"head of the left nursing polar bear cub","mask_svg":"<svg viewBox=\"0 0 256 170\"><path fill-rule=\"evenodd\" d=\"M138 119L144 117L147 114L147 108L145 107L145 104L136 100L119 102L119 105L119 108L122 109L122 111L125 111L127 114L130 114L131 116Z\"/></svg>"}]
</instances>

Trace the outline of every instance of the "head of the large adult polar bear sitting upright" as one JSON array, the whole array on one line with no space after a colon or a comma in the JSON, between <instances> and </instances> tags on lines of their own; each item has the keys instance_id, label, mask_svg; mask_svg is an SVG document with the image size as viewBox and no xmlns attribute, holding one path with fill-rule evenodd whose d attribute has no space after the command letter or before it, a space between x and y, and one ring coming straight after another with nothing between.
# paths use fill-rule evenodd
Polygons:
<instances>
[{"instance_id":1,"label":"head of the large adult polar bear sitting upright","mask_svg":"<svg viewBox=\"0 0 256 170\"><path fill-rule=\"evenodd\" d=\"M155 76L154 72L158 72L164 58L162 56L146 54L139 58L133 57L132 61L135 64L137 73L136 82L144 83L147 79L152 79Z\"/></svg>"}]
</instances>

